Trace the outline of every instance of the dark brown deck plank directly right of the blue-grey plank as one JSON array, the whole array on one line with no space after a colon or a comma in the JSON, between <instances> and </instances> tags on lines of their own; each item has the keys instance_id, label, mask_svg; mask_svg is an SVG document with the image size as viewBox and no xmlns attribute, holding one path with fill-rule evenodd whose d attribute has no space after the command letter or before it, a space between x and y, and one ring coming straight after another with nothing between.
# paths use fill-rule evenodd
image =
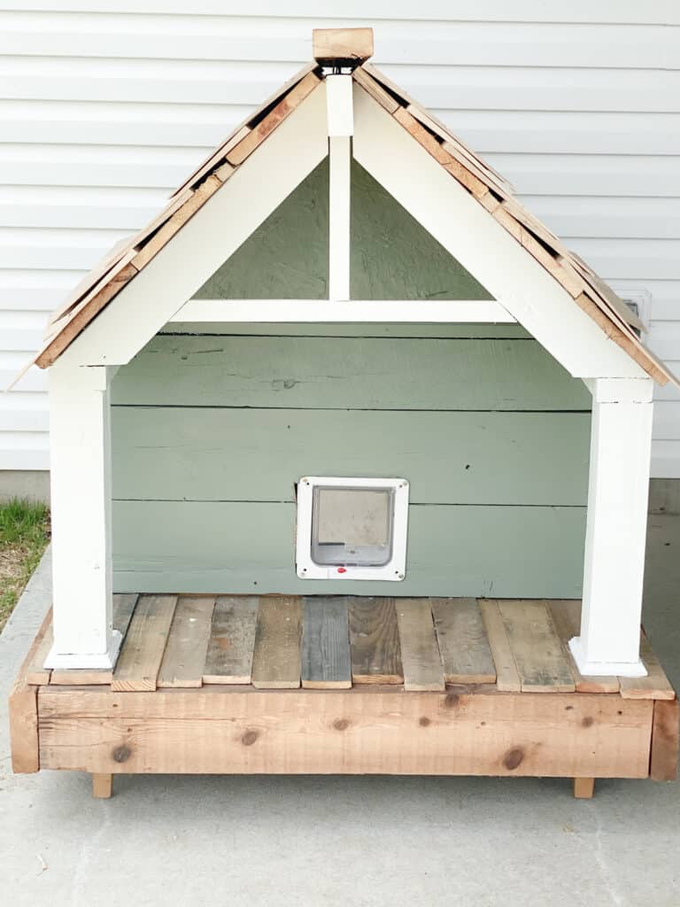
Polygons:
<instances>
[{"instance_id":1,"label":"dark brown deck plank directly right of the blue-grey plank","mask_svg":"<svg viewBox=\"0 0 680 907\"><path fill-rule=\"evenodd\" d=\"M402 650L393 599L352 598L349 638L354 683L403 683Z\"/></svg>"}]
</instances>

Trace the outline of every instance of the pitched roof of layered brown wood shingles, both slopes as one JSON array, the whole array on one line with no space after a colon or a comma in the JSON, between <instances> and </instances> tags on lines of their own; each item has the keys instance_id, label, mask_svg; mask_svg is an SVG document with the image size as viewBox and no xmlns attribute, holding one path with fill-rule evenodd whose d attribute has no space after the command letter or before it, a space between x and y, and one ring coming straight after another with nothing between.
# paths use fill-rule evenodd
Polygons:
<instances>
[{"instance_id":1,"label":"pitched roof of layered brown wood shingles, both slopes","mask_svg":"<svg viewBox=\"0 0 680 907\"><path fill-rule=\"evenodd\" d=\"M348 63L348 32L343 31L337 60ZM357 29L357 33L369 30ZM107 306L185 223L209 200L277 126L313 92L324 79L319 60L327 64L333 49L315 33L317 60L300 70L267 99L256 112L231 132L227 140L173 193L158 217L131 239L123 240L73 290L53 315L44 344L34 363L53 365L76 336ZM323 35L322 35L323 36ZM362 35L364 37L364 35ZM318 45L323 44L323 52ZM351 36L349 44L351 45ZM364 42L365 44L365 42ZM370 54L370 50L366 51ZM383 73L357 54L353 78L394 120L399 122L454 180L471 195L549 271L559 284L618 346L621 346L659 384L678 384L665 365L639 339L645 328L617 294L574 252L570 252L520 201L512 187L486 161L457 139L442 122L392 83Z\"/></svg>"}]
</instances>

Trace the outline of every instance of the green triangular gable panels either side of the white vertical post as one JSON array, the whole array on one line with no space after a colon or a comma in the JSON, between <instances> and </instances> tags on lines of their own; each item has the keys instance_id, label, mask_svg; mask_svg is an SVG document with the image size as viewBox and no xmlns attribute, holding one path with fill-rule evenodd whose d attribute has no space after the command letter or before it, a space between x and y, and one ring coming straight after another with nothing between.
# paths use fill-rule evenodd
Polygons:
<instances>
[{"instance_id":1,"label":"green triangular gable panels either side of the white vertical post","mask_svg":"<svg viewBox=\"0 0 680 907\"><path fill-rule=\"evenodd\" d=\"M353 299L491 295L364 169L352 162ZM300 183L198 290L197 299L324 299L328 160Z\"/></svg>"}]
</instances>

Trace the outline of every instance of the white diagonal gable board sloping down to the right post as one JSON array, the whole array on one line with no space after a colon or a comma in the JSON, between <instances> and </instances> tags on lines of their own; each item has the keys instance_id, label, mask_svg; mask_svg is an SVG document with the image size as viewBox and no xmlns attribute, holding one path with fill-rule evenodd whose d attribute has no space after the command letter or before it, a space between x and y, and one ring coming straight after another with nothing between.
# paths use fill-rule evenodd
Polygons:
<instances>
[{"instance_id":1,"label":"white diagonal gable board sloping down to the right post","mask_svg":"<svg viewBox=\"0 0 680 907\"><path fill-rule=\"evenodd\" d=\"M576 377L646 376L489 211L355 84L354 155Z\"/></svg>"}]
</instances>

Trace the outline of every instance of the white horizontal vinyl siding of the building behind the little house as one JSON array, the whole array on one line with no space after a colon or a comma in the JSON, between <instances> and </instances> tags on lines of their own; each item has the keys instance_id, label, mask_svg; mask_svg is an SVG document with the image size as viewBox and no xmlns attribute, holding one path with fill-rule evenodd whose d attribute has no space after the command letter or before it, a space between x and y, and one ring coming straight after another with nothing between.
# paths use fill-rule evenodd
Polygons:
<instances>
[{"instance_id":1,"label":"white horizontal vinyl siding of the building behind the little house","mask_svg":"<svg viewBox=\"0 0 680 907\"><path fill-rule=\"evenodd\" d=\"M312 28L341 24L372 25L374 63L619 292L651 295L648 343L680 371L675 0L0 0L0 387L83 273L311 58ZM33 370L0 395L0 469L48 467L44 388ZM680 476L680 391L657 400L653 474Z\"/></svg>"}]
</instances>

